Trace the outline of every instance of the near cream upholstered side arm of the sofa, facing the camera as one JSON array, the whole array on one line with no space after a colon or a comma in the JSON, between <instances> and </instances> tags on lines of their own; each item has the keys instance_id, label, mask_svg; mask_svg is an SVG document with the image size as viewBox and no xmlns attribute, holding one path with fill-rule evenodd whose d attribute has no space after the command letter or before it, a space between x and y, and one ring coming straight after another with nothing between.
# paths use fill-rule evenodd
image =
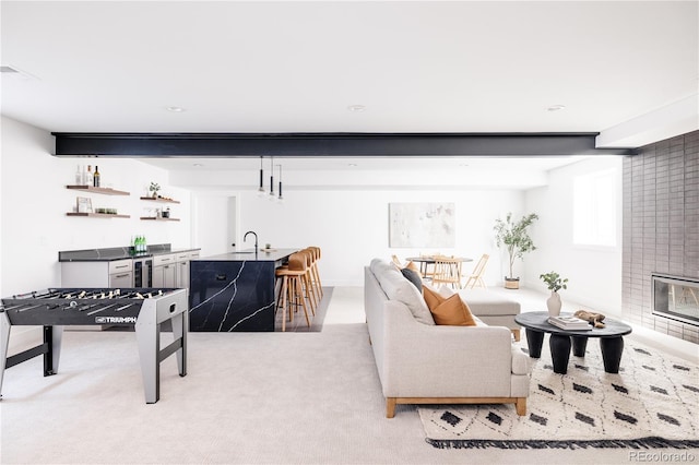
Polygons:
<instances>
[{"instance_id":1,"label":"near cream upholstered side arm of the sofa, facing the camera","mask_svg":"<svg viewBox=\"0 0 699 465\"><path fill-rule=\"evenodd\" d=\"M513 353L507 327L426 325L395 301L387 301L383 311L387 397L510 396Z\"/></svg>"}]
</instances>

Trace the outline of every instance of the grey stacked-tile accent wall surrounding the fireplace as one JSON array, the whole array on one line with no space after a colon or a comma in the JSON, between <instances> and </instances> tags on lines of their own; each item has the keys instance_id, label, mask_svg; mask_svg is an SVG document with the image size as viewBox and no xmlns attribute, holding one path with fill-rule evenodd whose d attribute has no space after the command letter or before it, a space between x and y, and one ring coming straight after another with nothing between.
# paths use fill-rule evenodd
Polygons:
<instances>
[{"instance_id":1,"label":"grey stacked-tile accent wall surrounding the fireplace","mask_svg":"<svg viewBox=\"0 0 699 465\"><path fill-rule=\"evenodd\" d=\"M651 273L699 277L699 131L624 159L623 236L625 319L699 344L699 326L651 313Z\"/></svg>"}]
</instances>

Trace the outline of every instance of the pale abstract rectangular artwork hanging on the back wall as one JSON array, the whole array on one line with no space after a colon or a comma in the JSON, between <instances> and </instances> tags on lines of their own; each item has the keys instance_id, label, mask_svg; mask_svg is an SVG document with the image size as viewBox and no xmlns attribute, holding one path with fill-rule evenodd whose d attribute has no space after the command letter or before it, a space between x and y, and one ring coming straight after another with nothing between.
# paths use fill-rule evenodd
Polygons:
<instances>
[{"instance_id":1,"label":"pale abstract rectangular artwork hanging on the back wall","mask_svg":"<svg viewBox=\"0 0 699 465\"><path fill-rule=\"evenodd\" d=\"M454 203L390 203L389 247L454 248Z\"/></svg>"}]
</instances>

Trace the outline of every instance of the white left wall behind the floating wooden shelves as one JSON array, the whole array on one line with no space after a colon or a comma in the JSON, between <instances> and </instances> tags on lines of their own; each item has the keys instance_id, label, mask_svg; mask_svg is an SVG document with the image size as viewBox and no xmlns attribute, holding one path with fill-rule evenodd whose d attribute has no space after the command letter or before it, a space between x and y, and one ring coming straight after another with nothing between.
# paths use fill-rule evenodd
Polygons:
<instances>
[{"instance_id":1,"label":"white left wall behind the floating wooden shelves","mask_svg":"<svg viewBox=\"0 0 699 465\"><path fill-rule=\"evenodd\" d=\"M145 235L149 243L170 242L190 247L190 193L168 186L167 171L132 159L57 158L48 131L2 117L0 155L0 296L60 286L60 250L128 246L131 236ZM99 166L103 187L128 191L129 196L76 194L73 184L79 164ZM181 204L156 204L139 200L151 181L162 194ZM93 207L116 207L130 218L69 217L75 196L92 199ZM180 222L146 222L146 208L170 206Z\"/></svg>"}]
</instances>

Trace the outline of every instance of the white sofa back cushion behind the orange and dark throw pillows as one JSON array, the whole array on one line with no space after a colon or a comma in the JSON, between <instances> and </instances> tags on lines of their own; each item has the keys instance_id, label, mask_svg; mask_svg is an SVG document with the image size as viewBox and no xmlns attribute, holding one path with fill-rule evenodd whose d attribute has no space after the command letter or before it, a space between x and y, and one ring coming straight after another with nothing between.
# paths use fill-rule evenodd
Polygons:
<instances>
[{"instance_id":1,"label":"white sofa back cushion behind the orange and dark throw pillows","mask_svg":"<svg viewBox=\"0 0 699 465\"><path fill-rule=\"evenodd\" d=\"M425 303L423 295L393 265L379 259L374 259L369 265L379 285L390 300L398 300L407 307L415 320L424 324L434 325L433 314Z\"/></svg>"}]
</instances>

